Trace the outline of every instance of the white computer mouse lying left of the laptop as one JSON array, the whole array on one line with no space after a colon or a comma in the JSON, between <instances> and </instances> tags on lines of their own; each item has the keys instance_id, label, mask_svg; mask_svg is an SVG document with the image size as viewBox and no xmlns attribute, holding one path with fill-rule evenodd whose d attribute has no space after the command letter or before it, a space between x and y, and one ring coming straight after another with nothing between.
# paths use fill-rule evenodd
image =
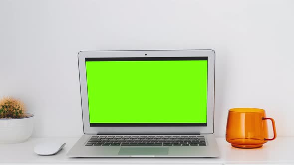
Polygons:
<instances>
[{"instance_id":1,"label":"white computer mouse lying left of the laptop","mask_svg":"<svg viewBox=\"0 0 294 165\"><path fill-rule=\"evenodd\" d=\"M35 146L34 152L38 155L54 155L58 153L66 143L48 142L41 143Z\"/></svg>"}]
</instances>

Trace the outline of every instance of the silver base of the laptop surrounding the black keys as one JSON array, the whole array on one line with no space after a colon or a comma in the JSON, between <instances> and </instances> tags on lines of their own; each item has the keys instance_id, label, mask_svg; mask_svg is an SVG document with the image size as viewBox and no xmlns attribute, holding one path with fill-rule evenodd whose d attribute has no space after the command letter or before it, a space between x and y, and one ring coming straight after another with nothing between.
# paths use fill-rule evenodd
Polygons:
<instances>
[{"instance_id":1,"label":"silver base of the laptop surrounding the black keys","mask_svg":"<svg viewBox=\"0 0 294 165\"><path fill-rule=\"evenodd\" d=\"M206 146L86 146L93 135L83 135L67 153L69 157L219 157L212 134ZM185 136L185 135L177 135Z\"/></svg>"}]
</instances>

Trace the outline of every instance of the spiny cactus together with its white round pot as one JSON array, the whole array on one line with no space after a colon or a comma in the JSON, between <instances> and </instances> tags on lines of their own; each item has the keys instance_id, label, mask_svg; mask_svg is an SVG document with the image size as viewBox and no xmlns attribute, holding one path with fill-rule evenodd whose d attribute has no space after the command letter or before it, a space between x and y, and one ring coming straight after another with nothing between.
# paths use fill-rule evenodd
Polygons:
<instances>
[{"instance_id":1,"label":"spiny cactus together with its white round pot","mask_svg":"<svg viewBox=\"0 0 294 165\"><path fill-rule=\"evenodd\" d=\"M11 96L0 99L0 143L26 141L33 131L33 114L25 113L20 99Z\"/></svg>"}]
</instances>

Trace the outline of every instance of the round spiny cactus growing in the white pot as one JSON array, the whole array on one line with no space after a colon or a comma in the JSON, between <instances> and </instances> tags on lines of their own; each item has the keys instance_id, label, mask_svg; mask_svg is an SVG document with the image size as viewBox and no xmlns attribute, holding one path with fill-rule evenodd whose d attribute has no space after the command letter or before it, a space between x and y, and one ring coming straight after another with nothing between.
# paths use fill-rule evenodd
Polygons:
<instances>
[{"instance_id":1,"label":"round spiny cactus growing in the white pot","mask_svg":"<svg viewBox=\"0 0 294 165\"><path fill-rule=\"evenodd\" d=\"M25 107L21 100L11 96L0 99L0 118L25 117Z\"/></svg>"}]
</instances>

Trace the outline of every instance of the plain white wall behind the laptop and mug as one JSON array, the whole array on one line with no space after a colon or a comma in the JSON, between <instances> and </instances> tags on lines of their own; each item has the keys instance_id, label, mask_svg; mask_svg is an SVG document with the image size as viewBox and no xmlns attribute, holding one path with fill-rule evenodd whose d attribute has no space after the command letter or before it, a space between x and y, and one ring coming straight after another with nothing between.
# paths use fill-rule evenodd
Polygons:
<instances>
[{"instance_id":1,"label":"plain white wall behind the laptop and mug","mask_svg":"<svg viewBox=\"0 0 294 165\"><path fill-rule=\"evenodd\" d=\"M79 136L80 50L214 49L216 136L233 107L294 136L293 29L293 0L1 0L0 95L27 104L33 136Z\"/></svg>"}]
</instances>

